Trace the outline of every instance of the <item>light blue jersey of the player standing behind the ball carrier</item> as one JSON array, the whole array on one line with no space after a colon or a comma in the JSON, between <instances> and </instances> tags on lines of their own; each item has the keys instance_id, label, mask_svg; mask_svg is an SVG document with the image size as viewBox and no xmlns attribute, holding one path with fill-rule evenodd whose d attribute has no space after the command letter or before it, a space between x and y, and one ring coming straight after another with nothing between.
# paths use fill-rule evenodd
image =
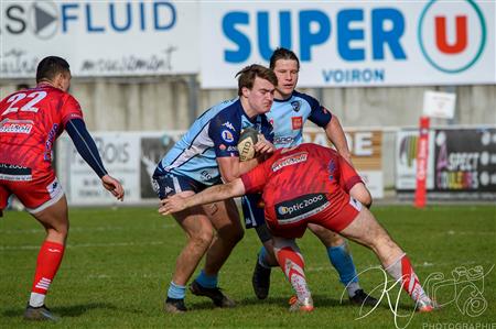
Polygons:
<instances>
[{"instance_id":1,"label":"light blue jersey of the player standing behind the ball carrier","mask_svg":"<svg viewBox=\"0 0 496 329\"><path fill-rule=\"evenodd\" d=\"M303 125L306 119L325 128L332 114L315 98L293 91L287 100L274 99L267 118L273 125L273 144L281 149L303 142Z\"/></svg>"}]
</instances>

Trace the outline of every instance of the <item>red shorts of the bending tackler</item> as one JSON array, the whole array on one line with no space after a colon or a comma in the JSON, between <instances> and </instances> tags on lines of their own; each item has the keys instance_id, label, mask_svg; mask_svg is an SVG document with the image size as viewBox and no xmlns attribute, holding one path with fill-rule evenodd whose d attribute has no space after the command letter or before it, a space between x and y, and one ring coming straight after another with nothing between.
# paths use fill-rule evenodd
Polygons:
<instances>
[{"instance_id":1,"label":"red shorts of the bending tackler","mask_svg":"<svg viewBox=\"0 0 496 329\"><path fill-rule=\"evenodd\" d=\"M309 222L320 224L334 232L341 232L358 216L362 210L362 204L356 199L343 193L345 198L341 204L330 204L323 210L312 213L308 218L304 215L302 219L285 223L284 220L278 220L273 217L266 217L267 226L273 235L287 239L296 239L303 237ZM325 205L322 205L324 207ZM319 208L317 208L319 209Z\"/></svg>"}]
</instances>

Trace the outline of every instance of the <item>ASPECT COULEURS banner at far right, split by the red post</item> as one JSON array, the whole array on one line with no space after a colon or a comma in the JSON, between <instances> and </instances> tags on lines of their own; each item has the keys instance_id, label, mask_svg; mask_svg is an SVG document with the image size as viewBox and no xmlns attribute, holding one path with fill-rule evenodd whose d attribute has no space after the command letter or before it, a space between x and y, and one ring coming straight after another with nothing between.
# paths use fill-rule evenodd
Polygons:
<instances>
[{"instance_id":1,"label":"ASPECT COULEURS banner at far right, split by the red post","mask_svg":"<svg viewBox=\"0 0 496 329\"><path fill-rule=\"evenodd\" d=\"M418 131L399 131L396 188L409 198L416 188ZM496 128L432 129L427 173L429 199L496 200Z\"/></svg>"}]
</instances>

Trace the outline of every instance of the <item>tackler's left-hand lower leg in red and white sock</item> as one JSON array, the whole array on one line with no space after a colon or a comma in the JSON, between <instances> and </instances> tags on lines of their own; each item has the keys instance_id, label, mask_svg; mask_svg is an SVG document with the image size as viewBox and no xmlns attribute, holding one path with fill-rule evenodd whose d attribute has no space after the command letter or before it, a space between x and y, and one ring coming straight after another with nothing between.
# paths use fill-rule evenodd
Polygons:
<instances>
[{"instance_id":1,"label":"tackler's left-hand lower leg in red and white sock","mask_svg":"<svg viewBox=\"0 0 496 329\"><path fill-rule=\"evenodd\" d=\"M294 242L294 239L285 239L280 237L273 237L272 239L278 263L296 293L296 298L292 298L292 300L290 300L290 310L313 310L312 294L310 293L306 284L304 272L305 262L300 249Z\"/></svg>"}]
</instances>

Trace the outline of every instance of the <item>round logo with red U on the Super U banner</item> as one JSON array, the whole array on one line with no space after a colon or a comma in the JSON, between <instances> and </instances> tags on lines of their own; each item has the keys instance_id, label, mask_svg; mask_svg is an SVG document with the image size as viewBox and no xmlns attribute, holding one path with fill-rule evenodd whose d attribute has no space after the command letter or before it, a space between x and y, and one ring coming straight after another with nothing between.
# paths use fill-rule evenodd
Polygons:
<instances>
[{"instance_id":1,"label":"round logo with red U on the Super U banner","mask_svg":"<svg viewBox=\"0 0 496 329\"><path fill-rule=\"evenodd\" d=\"M473 0L433 0L419 20L419 45L425 59L436 69L455 74L474 65L486 44L486 22Z\"/></svg>"}]
</instances>

